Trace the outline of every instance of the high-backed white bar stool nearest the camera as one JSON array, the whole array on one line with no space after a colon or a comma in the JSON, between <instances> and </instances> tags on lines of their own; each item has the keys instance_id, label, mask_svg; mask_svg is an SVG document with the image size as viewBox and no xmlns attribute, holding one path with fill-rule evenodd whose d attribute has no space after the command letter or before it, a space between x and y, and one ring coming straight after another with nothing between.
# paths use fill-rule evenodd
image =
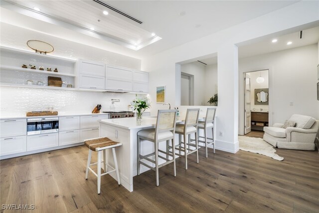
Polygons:
<instances>
[{"instance_id":1,"label":"high-backed white bar stool nearest the camera","mask_svg":"<svg viewBox=\"0 0 319 213\"><path fill-rule=\"evenodd\" d=\"M174 149L174 133L175 133L175 124L176 124L176 113L177 110L159 110L158 111L158 118L156 121L156 128L154 129L146 129L141 130L138 132L138 138L137 138L137 145L138 145L138 159L137 159L137 169L138 169L138 175L140 175L141 170L141 164L154 170L156 173L156 186L160 185L159 181L159 168L162 166L165 166L169 163L174 163L174 177L176 177L176 164L175 164L175 149ZM154 153L148 154L148 155L141 155L141 139L153 142L155 144L154 146ZM171 140L172 143L172 149L173 152L170 154L168 150L162 151L159 149L159 143L166 141L166 146L168 146L169 140ZM166 158L159 155L160 153L166 154ZM155 156L155 160L150 159L151 156ZM169 159L169 156L172 157L172 159ZM159 165L159 158L165 160L166 162ZM150 166L149 164L146 164L142 160L146 160L148 162L151 162L155 164L155 167Z\"/></svg>"}]
</instances>

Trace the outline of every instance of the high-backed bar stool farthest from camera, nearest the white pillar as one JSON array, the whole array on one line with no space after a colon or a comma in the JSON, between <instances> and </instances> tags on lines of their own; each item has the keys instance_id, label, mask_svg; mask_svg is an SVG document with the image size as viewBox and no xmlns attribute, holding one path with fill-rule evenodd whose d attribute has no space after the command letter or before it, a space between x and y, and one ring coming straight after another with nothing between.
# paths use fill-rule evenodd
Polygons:
<instances>
[{"instance_id":1,"label":"high-backed bar stool farthest from camera, nearest the white pillar","mask_svg":"<svg viewBox=\"0 0 319 213\"><path fill-rule=\"evenodd\" d=\"M207 155L207 146L208 145L211 145L211 144L213 145L214 153L215 153L215 131L214 131L215 114L216 114L216 108L207 108L205 121L199 121L198 126L197 126L198 130L199 129L204 130L204 137L199 136L199 134L198 134L198 138L204 138L204 141L198 139L198 142L205 143L206 158L208 157L208 155ZM212 130L212 138L207 137L207 129L208 128L211 128L211 130ZM207 140L210 140L210 142L207 142ZM204 147L204 146L199 145L199 147Z\"/></svg>"}]
</instances>

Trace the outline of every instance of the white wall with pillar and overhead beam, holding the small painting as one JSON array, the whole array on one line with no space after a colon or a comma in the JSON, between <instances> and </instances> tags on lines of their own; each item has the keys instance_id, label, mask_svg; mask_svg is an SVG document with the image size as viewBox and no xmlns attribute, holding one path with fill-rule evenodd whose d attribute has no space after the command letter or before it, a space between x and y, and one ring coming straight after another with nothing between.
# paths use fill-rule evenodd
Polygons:
<instances>
[{"instance_id":1,"label":"white wall with pillar and overhead beam, holding the small painting","mask_svg":"<svg viewBox=\"0 0 319 213\"><path fill-rule=\"evenodd\" d=\"M155 100L156 86L166 85L166 100L180 103L180 70L175 64L205 55L218 55L218 109L216 148L238 151L238 50L235 44L319 20L318 1L299 1L236 26L190 41L142 60L142 69L150 71L150 98ZM253 69L255 70L255 69ZM179 86L177 86L179 84ZM179 88L179 90L178 90ZM163 106L152 107L154 114ZM316 110L318 111L318 110ZM223 137L219 136L223 132Z\"/></svg>"}]
</instances>

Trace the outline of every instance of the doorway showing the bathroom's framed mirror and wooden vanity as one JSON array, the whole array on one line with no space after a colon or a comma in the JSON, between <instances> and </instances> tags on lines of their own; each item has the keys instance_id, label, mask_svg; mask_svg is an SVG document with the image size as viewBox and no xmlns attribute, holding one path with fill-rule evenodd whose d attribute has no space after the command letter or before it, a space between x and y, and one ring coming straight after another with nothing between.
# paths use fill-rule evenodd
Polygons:
<instances>
[{"instance_id":1,"label":"doorway showing the bathroom's framed mirror and wooden vanity","mask_svg":"<svg viewBox=\"0 0 319 213\"><path fill-rule=\"evenodd\" d=\"M269 70L244 73L244 134L262 137L269 125Z\"/></svg>"}]
</instances>

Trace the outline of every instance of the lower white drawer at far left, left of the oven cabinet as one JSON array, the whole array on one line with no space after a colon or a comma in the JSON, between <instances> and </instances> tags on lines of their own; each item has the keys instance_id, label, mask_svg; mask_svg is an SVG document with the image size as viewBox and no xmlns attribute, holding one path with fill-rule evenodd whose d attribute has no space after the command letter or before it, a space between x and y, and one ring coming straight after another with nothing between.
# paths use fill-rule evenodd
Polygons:
<instances>
[{"instance_id":1,"label":"lower white drawer at far left, left of the oven cabinet","mask_svg":"<svg viewBox=\"0 0 319 213\"><path fill-rule=\"evenodd\" d=\"M0 156L26 152L26 136L0 139Z\"/></svg>"}]
</instances>

